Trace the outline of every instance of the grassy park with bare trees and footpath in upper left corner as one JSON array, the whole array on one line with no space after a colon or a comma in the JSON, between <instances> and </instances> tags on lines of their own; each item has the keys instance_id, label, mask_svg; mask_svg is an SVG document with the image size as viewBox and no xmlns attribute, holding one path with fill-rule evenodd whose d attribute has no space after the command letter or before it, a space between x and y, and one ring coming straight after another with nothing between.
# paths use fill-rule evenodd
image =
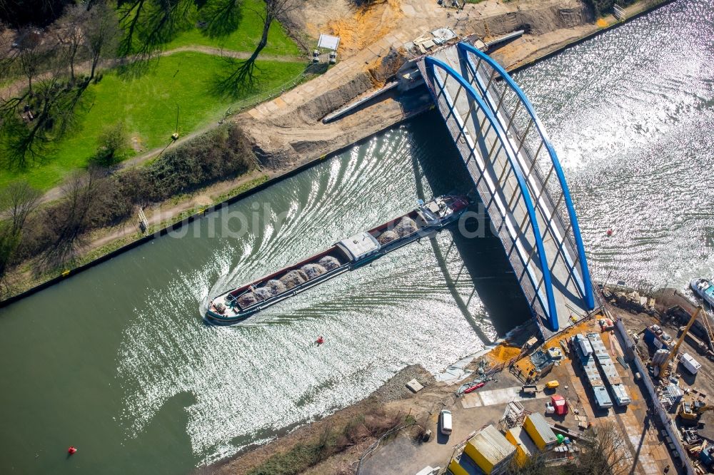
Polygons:
<instances>
[{"instance_id":1,"label":"grassy park with bare trees and footpath in upper left corner","mask_svg":"<svg viewBox=\"0 0 714 475\"><path fill-rule=\"evenodd\" d=\"M0 18L16 29L0 27L0 80L6 84L0 91L0 186L25 180L52 188L96 159L101 136L117 123L129 136L113 157L121 161L161 150L174 133L206 128L252 98L293 85L306 67L291 61L301 51L266 16L281 2L292 5L57 1L56 19L44 29L31 26L38 19L13 2L2 4ZM197 51L165 56L168 48L186 47ZM287 61L258 61L261 51ZM217 87L227 78L232 88Z\"/></svg>"}]
</instances>

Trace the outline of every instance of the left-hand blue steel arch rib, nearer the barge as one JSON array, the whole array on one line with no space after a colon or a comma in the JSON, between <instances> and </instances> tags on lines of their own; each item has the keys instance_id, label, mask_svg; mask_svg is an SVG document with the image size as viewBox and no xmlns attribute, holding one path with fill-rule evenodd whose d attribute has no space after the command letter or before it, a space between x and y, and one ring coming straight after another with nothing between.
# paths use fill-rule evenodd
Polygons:
<instances>
[{"instance_id":1,"label":"left-hand blue steel arch rib, nearer the barge","mask_svg":"<svg viewBox=\"0 0 714 475\"><path fill-rule=\"evenodd\" d=\"M501 124L498 122L498 119L496 119L496 117L493 115L491 109L488 108L488 106L486 106L486 103L483 102L483 98L481 98L481 96L476 93L476 90L473 88L473 86L471 86L471 83L468 83L468 81L466 81L466 79L463 78L461 74L454 71L451 66L448 66L446 63L443 63L442 61L439 61L436 58L427 56L426 58L424 58L424 63L426 64L426 66L431 66L431 74L433 76L436 76L436 68L438 67L445 71L448 76L451 76L456 81L458 81L458 83L463 87L468 96L471 97L474 101L476 101L479 108L481 108L483 113L486 115L486 118L488 118L488 122L491 124L491 127L496 132L498 140L501 141L501 144L503 145L506 143L506 134L503 133L503 131L501 130ZM427 71L429 70L427 69ZM454 104L454 106L456 106L456 104ZM543 247L543 239L540 237L540 229L538 228L538 220L535 216L535 208L533 207L531 195L530 193L528 193L526 182L523 179L523 173L521 172L521 168L518 166L518 163L516 163L515 157L513 157L513 151L511 150L511 148L508 148L506 146L503 146L503 150L506 150L506 157L508 158L508 162L511 164L511 168L513 168L514 175L516 175L516 180L518 181L518 188L520 189L521 195L523 196L523 201L526 204L528 218L531 220L531 226L533 227L533 235L535 237L535 247L538 254L538 260L540 262L540 269L543 274L543 287L545 288L545 296L548 307L548 310L546 311L546 316L548 317L550 330L556 331L560 327L560 325L558 324L558 310L555 307L555 297L553 295L553 281L550 277L550 267L548 266L548 262L545 258L545 248ZM538 296L538 300L540 300L541 306L545 307L545 305L543 305L543 300L540 297L540 292L538 291L538 284L536 282L533 282L533 277L527 269L526 274L528 274L528 279L530 279L531 283L533 284L533 288L536 292L536 295Z\"/></svg>"}]
</instances>

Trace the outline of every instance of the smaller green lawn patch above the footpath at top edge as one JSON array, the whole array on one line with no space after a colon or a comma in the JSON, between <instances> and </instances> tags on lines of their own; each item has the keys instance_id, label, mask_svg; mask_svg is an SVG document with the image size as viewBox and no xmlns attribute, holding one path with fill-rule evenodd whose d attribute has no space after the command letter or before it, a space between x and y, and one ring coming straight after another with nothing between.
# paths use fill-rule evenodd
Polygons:
<instances>
[{"instance_id":1,"label":"smaller green lawn patch above the footpath at top edge","mask_svg":"<svg viewBox=\"0 0 714 475\"><path fill-rule=\"evenodd\" d=\"M252 52L258 45L263 33L263 21L258 16L256 11L263 8L261 0L243 0L243 17L238 28L233 33L218 37L210 38L203 32L194 28L188 31L183 31L178 34L174 41L166 45L166 49L178 48L180 46L212 46L214 48L223 48L232 51L248 51ZM283 26L277 21L273 21L270 32L268 33L268 45L263 49L265 54L285 55L285 56L303 56L303 52L288 37L283 30Z\"/></svg>"}]
</instances>

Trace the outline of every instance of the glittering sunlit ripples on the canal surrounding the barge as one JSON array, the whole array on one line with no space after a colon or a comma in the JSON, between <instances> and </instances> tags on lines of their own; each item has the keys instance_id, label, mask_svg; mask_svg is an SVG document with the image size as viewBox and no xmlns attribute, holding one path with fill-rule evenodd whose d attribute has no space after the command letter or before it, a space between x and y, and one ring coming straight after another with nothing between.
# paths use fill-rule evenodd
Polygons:
<instances>
[{"instance_id":1,"label":"glittering sunlit ripples on the canal surrounding the barge","mask_svg":"<svg viewBox=\"0 0 714 475\"><path fill-rule=\"evenodd\" d=\"M244 325L206 327L198 320L196 308L203 310L209 297L413 208L411 141L398 128L281 183L279 193L268 190L231 207L258 209L248 234L223 240L205 265L179 271L151 292L124 331L119 379L127 389L129 436L140 436L167 399L191 393L196 403L187 408L187 430L194 453L208 463L356 402L406 364L438 372L483 347L453 304L428 240L269 307ZM380 168L388 173L375 173ZM419 180L428 190L427 180ZM276 227L278 217L284 221ZM446 250L451 240L442 233L438 246ZM456 275L458 253L445 265ZM213 285L215 270L221 276ZM460 282L466 301L468 273ZM169 302L171 312L152 302ZM483 315L477 298L470 310ZM488 321L481 325L493 335ZM316 347L318 334L328 344Z\"/></svg>"}]
</instances>

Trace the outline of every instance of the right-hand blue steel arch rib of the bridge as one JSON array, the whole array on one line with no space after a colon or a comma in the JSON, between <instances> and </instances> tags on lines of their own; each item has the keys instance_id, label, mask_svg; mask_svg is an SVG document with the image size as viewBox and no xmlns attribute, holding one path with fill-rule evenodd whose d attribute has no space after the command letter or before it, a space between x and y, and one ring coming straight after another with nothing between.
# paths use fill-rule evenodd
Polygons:
<instances>
[{"instance_id":1,"label":"right-hand blue steel arch rib of the bridge","mask_svg":"<svg viewBox=\"0 0 714 475\"><path fill-rule=\"evenodd\" d=\"M548 138L548 133L545 131L543 123L540 122L540 118L538 118L538 114L535 113L531 101L528 101L528 97L526 97L526 94L523 93L518 84L516 84L516 81L513 81L513 78L511 78L511 76L506 72L506 70L503 69L503 67L496 61L494 61L491 56L488 56L486 53L483 53L483 51L479 50L478 48L475 48L470 44L466 44L463 42L460 42L456 47L458 48L460 56L462 53L473 53L473 55L477 56L483 61L486 61L486 63L488 63L491 68L498 72L501 78L503 78L503 81L506 81L506 84L508 84L511 90L516 93L518 99L526 108L526 111L528 111L528 115L531 116L531 119L533 120L533 125L535 126L535 130L538 131L540 139L543 141L543 145L545 146L545 150L548 150L550 161L553 163L553 168L555 169L555 175L558 177L560 188L562 188L563 190L565 208L568 209L568 217L570 218L570 223L573 227L573 236L575 237L575 247L577 247L578 250L580 274L583 277L583 288L581 289L581 291L582 295L585 297L585 305L587 305L588 310L593 310L593 308L595 308L593 284L590 281L590 270L588 270L588 260L585 256L583 237L582 235L580 235L580 225L578 224L578 217L577 215L575 215L575 207L573 206L573 200L570 197L570 189L568 188L568 183L565 181L565 174L563 173L563 168L560 166L560 160L558 160L558 155L555 153L555 148L553 148L553 144L550 143L550 138ZM471 73L474 75L474 77L476 77L476 71L473 71L473 65L471 65L470 61L467 61L467 63L471 68Z\"/></svg>"}]
</instances>

